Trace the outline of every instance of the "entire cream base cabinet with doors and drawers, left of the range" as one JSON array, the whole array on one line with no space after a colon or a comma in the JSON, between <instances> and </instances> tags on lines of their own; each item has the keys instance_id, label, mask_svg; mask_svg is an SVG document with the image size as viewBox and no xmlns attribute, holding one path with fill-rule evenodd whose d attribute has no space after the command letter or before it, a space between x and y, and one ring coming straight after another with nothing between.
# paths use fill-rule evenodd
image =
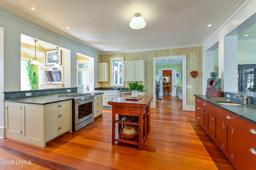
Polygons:
<instances>
[{"instance_id":1,"label":"entire cream base cabinet with doors and drawers, left of the range","mask_svg":"<svg viewBox=\"0 0 256 170\"><path fill-rule=\"evenodd\" d=\"M46 146L46 142L72 132L71 100L47 105L5 102L6 138Z\"/></svg>"}]
</instances>

